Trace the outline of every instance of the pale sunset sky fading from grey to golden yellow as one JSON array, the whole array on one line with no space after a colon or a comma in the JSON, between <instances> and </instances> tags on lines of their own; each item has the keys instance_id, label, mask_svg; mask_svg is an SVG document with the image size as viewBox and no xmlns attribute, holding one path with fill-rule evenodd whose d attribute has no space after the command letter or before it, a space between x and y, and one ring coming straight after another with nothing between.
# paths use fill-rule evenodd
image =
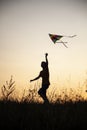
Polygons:
<instances>
[{"instance_id":1,"label":"pale sunset sky fading from grey to golden yellow","mask_svg":"<svg viewBox=\"0 0 87 130\"><path fill-rule=\"evenodd\" d=\"M54 45L49 33L77 36L63 37L65 48ZM28 87L41 71L46 52L51 85L69 79L83 82L86 35L86 0L0 0L0 86L13 75L19 90Z\"/></svg>"}]
</instances>

